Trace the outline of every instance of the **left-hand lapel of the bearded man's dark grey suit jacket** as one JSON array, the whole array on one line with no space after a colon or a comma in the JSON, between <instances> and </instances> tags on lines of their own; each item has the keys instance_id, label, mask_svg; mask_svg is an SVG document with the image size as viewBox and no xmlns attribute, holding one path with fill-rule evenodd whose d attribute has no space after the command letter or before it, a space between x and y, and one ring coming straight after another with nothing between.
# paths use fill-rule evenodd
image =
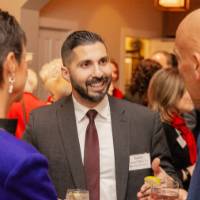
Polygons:
<instances>
[{"instance_id":1,"label":"left-hand lapel of the bearded man's dark grey suit jacket","mask_svg":"<svg viewBox=\"0 0 200 200\"><path fill-rule=\"evenodd\" d=\"M63 141L66 159L77 188L86 188L84 168L78 140L76 119L72 97L68 97L57 109L58 123Z\"/></svg>"}]
</instances>

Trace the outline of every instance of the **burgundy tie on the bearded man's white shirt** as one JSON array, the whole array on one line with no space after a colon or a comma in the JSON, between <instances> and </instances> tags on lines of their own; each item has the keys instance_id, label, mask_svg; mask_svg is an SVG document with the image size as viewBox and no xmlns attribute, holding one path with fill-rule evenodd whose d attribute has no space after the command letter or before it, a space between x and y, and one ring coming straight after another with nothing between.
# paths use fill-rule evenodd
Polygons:
<instances>
[{"instance_id":1,"label":"burgundy tie on the bearded man's white shirt","mask_svg":"<svg viewBox=\"0 0 200 200\"><path fill-rule=\"evenodd\" d=\"M90 200L99 200L99 139L94 119L97 115L96 110L87 112L89 124L86 129L84 168L87 189L90 193Z\"/></svg>"}]
</instances>

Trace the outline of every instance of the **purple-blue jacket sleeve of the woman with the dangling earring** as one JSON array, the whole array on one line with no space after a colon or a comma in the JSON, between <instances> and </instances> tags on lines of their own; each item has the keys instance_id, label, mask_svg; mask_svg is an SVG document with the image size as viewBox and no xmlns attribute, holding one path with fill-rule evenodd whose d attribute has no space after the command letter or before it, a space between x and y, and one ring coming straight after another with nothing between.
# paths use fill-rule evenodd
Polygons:
<instances>
[{"instance_id":1,"label":"purple-blue jacket sleeve of the woman with the dangling earring","mask_svg":"<svg viewBox=\"0 0 200 200\"><path fill-rule=\"evenodd\" d=\"M9 173L4 186L9 191L6 199L56 200L47 169L47 161L42 155L28 155Z\"/></svg>"}]
</instances>

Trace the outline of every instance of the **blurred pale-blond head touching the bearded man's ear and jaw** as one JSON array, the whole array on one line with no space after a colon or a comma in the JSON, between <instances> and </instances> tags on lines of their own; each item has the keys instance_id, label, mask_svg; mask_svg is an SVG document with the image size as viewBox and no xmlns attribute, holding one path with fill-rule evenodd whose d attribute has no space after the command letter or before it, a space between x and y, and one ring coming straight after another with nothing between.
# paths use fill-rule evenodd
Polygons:
<instances>
[{"instance_id":1,"label":"blurred pale-blond head touching the bearded man's ear and jaw","mask_svg":"<svg viewBox=\"0 0 200 200\"><path fill-rule=\"evenodd\" d=\"M61 67L62 60L58 58L43 65L39 72L44 88L50 94L47 98L48 104L71 94L71 83L62 77Z\"/></svg>"}]
</instances>

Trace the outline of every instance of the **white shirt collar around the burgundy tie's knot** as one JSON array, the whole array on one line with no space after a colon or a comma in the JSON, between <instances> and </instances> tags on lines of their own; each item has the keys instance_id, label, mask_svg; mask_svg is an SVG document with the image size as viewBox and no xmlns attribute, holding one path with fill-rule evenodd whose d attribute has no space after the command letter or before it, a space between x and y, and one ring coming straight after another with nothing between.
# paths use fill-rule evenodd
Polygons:
<instances>
[{"instance_id":1,"label":"white shirt collar around the burgundy tie's knot","mask_svg":"<svg viewBox=\"0 0 200 200\"><path fill-rule=\"evenodd\" d=\"M72 95L72 100L74 103L76 119L78 122L80 122L85 117L86 113L88 112L88 110L90 110L90 108L80 104L73 95ZM101 116L102 118L110 119L110 105L108 101L108 96L105 95L105 97L101 100L101 102L93 109L96 110L99 116Z\"/></svg>"}]
</instances>

